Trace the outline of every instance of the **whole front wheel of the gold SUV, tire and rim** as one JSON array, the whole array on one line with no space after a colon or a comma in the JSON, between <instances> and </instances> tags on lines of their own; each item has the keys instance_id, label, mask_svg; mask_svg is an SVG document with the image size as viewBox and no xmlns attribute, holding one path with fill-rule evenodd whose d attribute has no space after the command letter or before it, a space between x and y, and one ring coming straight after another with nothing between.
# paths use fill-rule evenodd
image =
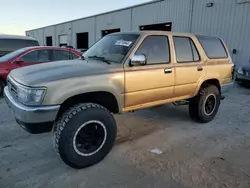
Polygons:
<instances>
[{"instance_id":1,"label":"whole front wheel of the gold SUV, tire and rim","mask_svg":"<svg viewBox=\"0 0 250 188\"><path fill-rule=\"evenodd\" d=\"M81 169L101 161L116 139L116 122L104 107L84 103L74 106L53 127L53 144L62 160Z\"/></svg>"}]
</instances>

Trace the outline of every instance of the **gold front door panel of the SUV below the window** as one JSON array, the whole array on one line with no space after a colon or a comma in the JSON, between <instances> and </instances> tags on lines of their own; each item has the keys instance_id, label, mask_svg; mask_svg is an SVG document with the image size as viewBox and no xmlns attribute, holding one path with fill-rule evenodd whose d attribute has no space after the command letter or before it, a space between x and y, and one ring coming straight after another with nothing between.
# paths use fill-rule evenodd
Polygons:
<instances>
[{"instance_id":1,"label":"gold front door panel of the SUV below the window","mask_svg":"<svg viewBox=\"0 0 250 188\"><path fill-rule=\"evenodd\" d=\"M165 74L164 69L172 69ZM143 106L173 97L173 65L127 67L125 71L125 108Z\"/></svg>"}]
</instances>

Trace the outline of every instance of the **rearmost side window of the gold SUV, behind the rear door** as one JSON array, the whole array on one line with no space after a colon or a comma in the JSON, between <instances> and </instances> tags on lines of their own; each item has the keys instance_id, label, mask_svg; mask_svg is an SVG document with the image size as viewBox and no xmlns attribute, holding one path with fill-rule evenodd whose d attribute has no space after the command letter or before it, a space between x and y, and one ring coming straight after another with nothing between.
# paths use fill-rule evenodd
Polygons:
<instances>
[{"instance_id":1,"label":"rearmost side window of the gold SUV, behind the rear door","mask_svg":"<svg viewBox=\"0 0 250 188\"><path fill-rule=\"evenodd\" d=\"M197 36L206 55L210 59L227 58L225 46L219 38Z\"/></svg>"}]
</instances>

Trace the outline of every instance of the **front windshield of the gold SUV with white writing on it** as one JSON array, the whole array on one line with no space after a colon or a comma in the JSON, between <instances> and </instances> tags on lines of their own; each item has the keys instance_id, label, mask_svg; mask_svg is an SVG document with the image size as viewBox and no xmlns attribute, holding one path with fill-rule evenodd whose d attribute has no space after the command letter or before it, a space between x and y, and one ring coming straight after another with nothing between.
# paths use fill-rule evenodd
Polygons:
<instances>
[{"instance_id":1,"label":"front windshield of the gold SUV with white writing on it","mask_svg":"<svg viewBox=\"0 0 250 188\"><path fill-rule=\"evenodd\" d=\"M121 63L139 36L138 34L105 36L84 53L84 58L102 57L110 62Z\"/></svg>"}]
</instances>

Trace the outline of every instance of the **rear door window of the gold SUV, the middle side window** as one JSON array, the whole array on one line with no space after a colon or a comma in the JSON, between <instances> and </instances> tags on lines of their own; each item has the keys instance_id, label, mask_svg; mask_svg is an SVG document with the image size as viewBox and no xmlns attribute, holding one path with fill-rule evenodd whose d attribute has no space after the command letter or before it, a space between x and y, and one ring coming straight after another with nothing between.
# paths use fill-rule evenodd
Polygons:
<instances>
[{"instance_id":1,"label":"rear door window of the gold SUV, the middle side window","mask_svg":"<svg viewBox=\"0 0 250 188\"><path fill-rule=\"evenodd\" d=\"M188 37L174 37L177 62L199 61L200 57L193 41Z\"/></svg>"}]
</instances>

